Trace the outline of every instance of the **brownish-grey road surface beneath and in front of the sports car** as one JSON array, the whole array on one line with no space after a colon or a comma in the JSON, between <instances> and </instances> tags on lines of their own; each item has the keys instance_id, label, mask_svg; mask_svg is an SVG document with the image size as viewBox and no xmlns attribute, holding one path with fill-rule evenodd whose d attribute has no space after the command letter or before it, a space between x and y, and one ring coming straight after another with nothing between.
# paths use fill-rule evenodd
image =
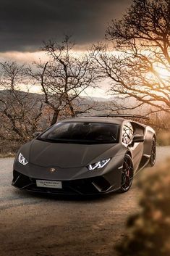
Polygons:
<instances>
[{"instance_id":1,"label":"brownish-grey road surface beneath and in front of the sports car","mask_svg":"<svg viewBox=\"0 0 170 256\"><path fill-rule=\"evenodd\" d=\"M169 156L170 146L158 147L156 165ZM127 234L127 216L137 211L137 180L126 194L99 198L50 197L11 186L13 158L0 159L1 256L113 256Z\"/></svg>"}]
</instances>

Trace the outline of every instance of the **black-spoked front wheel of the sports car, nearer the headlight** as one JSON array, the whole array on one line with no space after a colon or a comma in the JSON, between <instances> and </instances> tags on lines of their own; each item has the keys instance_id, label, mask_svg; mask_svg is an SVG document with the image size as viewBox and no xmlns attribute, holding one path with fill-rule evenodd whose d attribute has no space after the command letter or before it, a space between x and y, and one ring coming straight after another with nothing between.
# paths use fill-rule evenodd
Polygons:
<instances>
[{"instance_id":1,"label":"black-spoked front wheel of the sports car, nearer the headlight","mask_svg":"<svg viewBox=\"0 0 170 256\"><path fill-rule=\"evenodd\" d=\"M121 188L119 189L120 192L124 193L129 190L132 186L133 181L133 163L132 158L129 154L125 154L123 168L122 168L122 182Z\"/></svg>"}]
</instances>

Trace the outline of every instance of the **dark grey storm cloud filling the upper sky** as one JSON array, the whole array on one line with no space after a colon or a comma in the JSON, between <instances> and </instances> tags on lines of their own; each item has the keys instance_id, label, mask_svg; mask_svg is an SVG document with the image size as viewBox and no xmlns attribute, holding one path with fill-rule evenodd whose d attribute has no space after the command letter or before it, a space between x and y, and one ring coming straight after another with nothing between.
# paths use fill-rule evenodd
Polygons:
<instances>
[{"instance_id":1,"label":"dark grey storm cloud filling the upper sky","mask_svg":"<svg viewBox=\"0 0 170 256\"><path fill-rule=\"evenodd\" d=\"M0 51L35 51L42 41L73 34L77 44L100 41L107 22L131 0L0 0Z\"/></svg>"}]
</instances>

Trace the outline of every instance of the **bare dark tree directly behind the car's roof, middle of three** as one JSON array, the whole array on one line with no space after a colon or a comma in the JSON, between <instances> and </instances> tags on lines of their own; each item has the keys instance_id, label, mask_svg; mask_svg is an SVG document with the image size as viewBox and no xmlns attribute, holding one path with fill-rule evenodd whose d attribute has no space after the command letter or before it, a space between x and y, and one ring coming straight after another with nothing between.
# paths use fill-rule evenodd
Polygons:
<instances>
[{"instance_id":1,"label":"bare dark tree directly behind the car's roof, middle of three","mask_svg":"<svg viewBox=\"0 0 170 256\"><path fill-rule=\"evenodd\" d=\"M75 117L75 99L89 86L95 86L96 75L90 54L77 55L74 48L75 42L70 36L65 36L61 44L45 42L43 51L48 55L48 62L35 63L35 70L30 69L35 83L41 85L45 103L54 112L51 125L56 123L60 112L66 114L67 111L67 115Z\"/></svg>"}]
</instances>

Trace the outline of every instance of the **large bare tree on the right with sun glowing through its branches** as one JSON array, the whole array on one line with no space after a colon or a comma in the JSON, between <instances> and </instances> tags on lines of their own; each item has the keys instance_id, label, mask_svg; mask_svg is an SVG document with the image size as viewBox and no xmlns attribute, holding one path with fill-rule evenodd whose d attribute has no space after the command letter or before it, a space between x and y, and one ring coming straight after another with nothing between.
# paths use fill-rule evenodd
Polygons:
<instances>
[{"instance_id":1,"label":"large bare tree on the right with sun glowing through its branches","mask_svg":"<svg viewBox=\"0 0 170 256\"><path fill-rule=\"evenodd\" d=\"M170 112L170 1L134 0L106 39L109 46L95 46L94 56L111 91Z\"/></svg>"}]
</instances>

